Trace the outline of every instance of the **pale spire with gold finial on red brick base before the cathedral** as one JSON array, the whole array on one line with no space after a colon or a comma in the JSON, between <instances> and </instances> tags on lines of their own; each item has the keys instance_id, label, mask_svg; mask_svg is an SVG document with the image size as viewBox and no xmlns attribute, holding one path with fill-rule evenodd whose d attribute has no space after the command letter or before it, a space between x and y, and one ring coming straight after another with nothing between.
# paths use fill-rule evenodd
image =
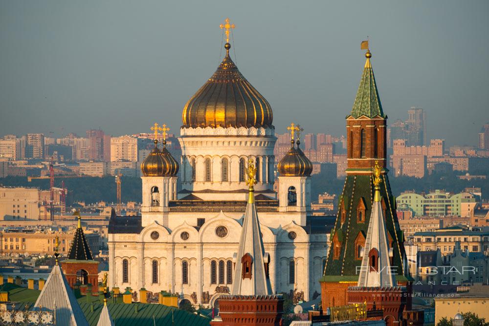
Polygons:
<instances>
[{"instance_id":1,"label":"pale spire with gold finial on red brick base before the cathedral","mask_svg":"<svg viewBox=\"0 0 489 326\"><path fill-rule=\"evenodd\" d=\"M252 159L246 169L249 186L248 203L243 219L238 252L234 256L234 278L231 294L219 298L219 316L211 326L278 326L282 318L282 295L272 292L260 223L255 206L253 186L256 167Z\"/></svg>"}]
</instances>

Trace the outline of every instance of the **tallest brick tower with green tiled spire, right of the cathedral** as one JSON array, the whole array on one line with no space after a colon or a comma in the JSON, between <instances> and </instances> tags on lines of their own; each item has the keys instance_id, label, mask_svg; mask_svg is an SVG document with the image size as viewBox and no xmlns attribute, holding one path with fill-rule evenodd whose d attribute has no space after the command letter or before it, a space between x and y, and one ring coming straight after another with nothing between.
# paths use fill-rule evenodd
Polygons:
<instances>
[{"instance_id":1,"label":"tallest brick tower with green tiled spire, right of the cathedral","mask_svg":"<svg viewBox=\"0 0 489 326\"><path fill-rule=\"evenodd\" d=\"M406 284L410 279L404 263L403 235L396 216L386 169L386 121L378 96L374 71L367 58L351 113L346 117L348 168L343 192L339 197L336 222L331 232L331 248L324 275L320 280L322 307L348 303L347 290L356 286L363 249L374 203L372 168L380 166L379 205L385 221L387 248L392 255L390 266L395 281ZM368 253L367 253L368 254Z\"/></svg>"}]
</instances>

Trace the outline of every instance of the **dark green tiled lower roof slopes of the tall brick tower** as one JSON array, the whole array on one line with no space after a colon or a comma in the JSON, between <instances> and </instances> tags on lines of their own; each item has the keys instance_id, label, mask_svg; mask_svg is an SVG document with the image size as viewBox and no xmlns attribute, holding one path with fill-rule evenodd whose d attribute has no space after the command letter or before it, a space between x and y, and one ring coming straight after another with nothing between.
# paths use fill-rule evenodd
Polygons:
<instances>
[{"instance_id":1,"label":"dark green tiled lower roof slopes of the tall brick tower","mask_svg":"<svg viewBox=\"0 0 489 326\"><path fill-rule=\"evenodd\" d=\"M386 205L385 220L387 231L394 242L392 266L398 266L398 273L402 275L402 256L404 255L402 233L397 215L395 214L395 201L391 194L387 175L384 175L384 180L380 187L380 196ZM361 265L361 260L357 260L355 257L355 239L359 232L367 234L368 230L373 202L373 186L370 175L348 175L345 180L342 197L345 202L346 220L341 224L340 208L338 208L336 222L331 231L332 237L335 232L342 234L340 258L334 260L333 250L330 250L324 276L349 276L353 277L352 280L356 278L355 281L357 281L356 267ZM356 206L362 197L366 204L365 221L358 223L356 219Z\"/></svg>"}]
</instances>

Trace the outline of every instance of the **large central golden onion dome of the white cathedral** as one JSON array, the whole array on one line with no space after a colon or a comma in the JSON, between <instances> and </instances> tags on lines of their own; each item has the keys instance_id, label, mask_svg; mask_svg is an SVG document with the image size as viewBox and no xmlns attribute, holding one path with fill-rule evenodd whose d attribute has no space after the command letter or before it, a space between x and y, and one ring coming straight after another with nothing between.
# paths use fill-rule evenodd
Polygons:
<instances>
[{"instance_id":1,"label":"large central golden onion dome of the white cathedral","mask_svg":"<svg viewBox=\"0 0 489 326\"><path fill-rule=\"evenodd\" d=\"M273 114L267 100L243 77L226 56L211 78L183 108L183 127L272 127Z\"/></svg>"}]
</instances>

